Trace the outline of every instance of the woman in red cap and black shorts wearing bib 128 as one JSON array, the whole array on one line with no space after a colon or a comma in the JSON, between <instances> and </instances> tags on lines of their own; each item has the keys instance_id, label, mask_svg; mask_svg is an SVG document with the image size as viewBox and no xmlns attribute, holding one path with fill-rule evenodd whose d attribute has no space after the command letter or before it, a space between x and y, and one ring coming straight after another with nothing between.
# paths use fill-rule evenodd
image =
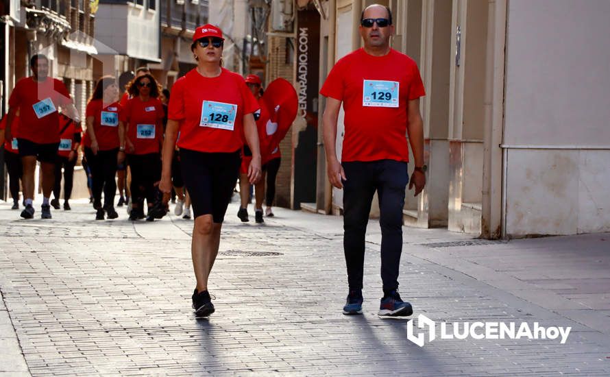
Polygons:
<instances>
[{"instance_id":1,"label":"woman in red cap and black shorts wearing bib 128","mask_svg":"<svg viewBox=\"0 0 610 377\"><path fill-rule=\"evenodd\" d=\"M243 77L221 66L223 35L214 25L195 29L191 51L197 68L173 84L163 146L160 189L171 192L171 158L180 125L182 178L191 200L195 224L191 255L197 287L195 316L214 313L208 278L218 254L227 206L239 176L243 138L252 151L248 178L260 178L260 149L253 113L256 99ZM180 124L182 123L182 124Z\"/></svg>"}]
</instances>

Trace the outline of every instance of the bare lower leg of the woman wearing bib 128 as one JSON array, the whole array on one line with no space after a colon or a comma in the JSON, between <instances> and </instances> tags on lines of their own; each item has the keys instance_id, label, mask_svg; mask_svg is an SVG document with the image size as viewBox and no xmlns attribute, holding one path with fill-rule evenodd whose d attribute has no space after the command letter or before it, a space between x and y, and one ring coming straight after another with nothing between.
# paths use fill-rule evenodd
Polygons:
<instances>
[{"instance_id":1,"label":"bare lower leg of the woman wearing bib 128","mask_svg":"<svg viewBox=\"0 0 610 377\"><path fill-rule=\"evenodd\" d=\"M213 222L212 215L201 215L195 219L191 256L197 279L197 291L208 290L208 278L218 255L222 223Z\"/></svg>"}]
</instances>

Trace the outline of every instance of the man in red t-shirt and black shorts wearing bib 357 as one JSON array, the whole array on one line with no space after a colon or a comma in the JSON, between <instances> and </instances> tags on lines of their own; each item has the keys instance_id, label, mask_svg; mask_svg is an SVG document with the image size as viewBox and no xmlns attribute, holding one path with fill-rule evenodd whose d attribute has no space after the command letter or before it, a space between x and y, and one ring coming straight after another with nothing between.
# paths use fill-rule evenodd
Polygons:
<instances>
[{"instance_id":1,"label":"man in red t-shirt and black shorts wearing bib 357","mask_svg":"<svg viewBox=\"0 0 610 377\"><path fill-rule=\"evenodd\" d=\"M72 104L70 94L60 80L48 77L49 60L42 54L32 56L29 61L32 77L25 77L15 85L8 105L6 135L10 138L10 125L19 108L20 127L14 135L19 144L19 155L23 163L24 219L34 217L34 171L36 160L40 161L42 173L42 219L51 219L49 197L55 181L55 162L60 144L58 107L62 112L80 122L78 112Z\"/></svg>"}]
</instances>

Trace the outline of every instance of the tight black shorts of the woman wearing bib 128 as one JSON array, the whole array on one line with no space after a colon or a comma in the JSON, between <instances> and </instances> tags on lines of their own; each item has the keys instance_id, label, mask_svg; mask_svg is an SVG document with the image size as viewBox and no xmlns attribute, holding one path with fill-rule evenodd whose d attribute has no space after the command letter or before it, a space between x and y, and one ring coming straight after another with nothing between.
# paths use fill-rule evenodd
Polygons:
<instances>
[{"instance_id":1,"label":"tight black shorts of the woman wearing bib 128","mask_svg":"<svg viewBox=\"0 0 610 377\"><path fill-rule=\"evenodd\" d=\"M222 223L239 177L241 151L206 153L181 148L180 165L195 218L212 215L215 223Z\"/></svg>"}]
</instances>

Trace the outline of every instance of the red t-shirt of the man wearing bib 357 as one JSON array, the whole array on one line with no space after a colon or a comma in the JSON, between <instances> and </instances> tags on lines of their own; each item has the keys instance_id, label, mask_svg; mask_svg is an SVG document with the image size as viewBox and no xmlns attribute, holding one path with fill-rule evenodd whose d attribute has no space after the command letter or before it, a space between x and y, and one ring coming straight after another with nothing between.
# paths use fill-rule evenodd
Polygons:
<instances>
[{"instance_id":1,"label":"red t-shirt of the man wearing bib 357","mask_svg":"<svg viewBox=\"0 0 610 377\"><path fill-rule=\"evenodd\" d=\"M15 137L38 144L58 143L58 106L72 104L70 94L60 80L47 77L43 82L25 77L15 85L8 106L20 108L21 127Z\"/></svg>"}]
</instances>

